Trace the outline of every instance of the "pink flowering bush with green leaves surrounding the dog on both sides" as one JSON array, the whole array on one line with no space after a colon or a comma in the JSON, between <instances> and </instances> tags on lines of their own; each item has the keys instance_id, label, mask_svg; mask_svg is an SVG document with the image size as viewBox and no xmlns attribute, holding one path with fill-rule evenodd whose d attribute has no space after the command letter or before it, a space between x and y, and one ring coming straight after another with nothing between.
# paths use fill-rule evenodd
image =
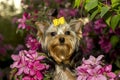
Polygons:
<instances>
[{"instance_id":1,"label":"pink flowering bush with green leaves surrounding the dog on both sides","mask_svg":"<svg viewBox=\"0 0 120 80\"><path fill-rule=\"evenodd\" d=\"M83 58L82 64L76 68L77 80L119 79L119 0L75 0L74 8L72 5L72 0L22 0L24 12L22 18L17 20L17 32L26 31L27 48L20 51L18 55L11 56L14 61L10 66L13 69L11 78L15 75L15 79L20 80L46 79L48 65L43 63L43 60L47 57L43 56L44 53L39 54L42 50L37 38L36 21L51 22L54 17L61 16L69 21L87 16L90 22L83 27L80 48L84 56L93 56L90 56L88 60ZM105 63L102 62L103 55Z\"/></svg>"}]
</instances>

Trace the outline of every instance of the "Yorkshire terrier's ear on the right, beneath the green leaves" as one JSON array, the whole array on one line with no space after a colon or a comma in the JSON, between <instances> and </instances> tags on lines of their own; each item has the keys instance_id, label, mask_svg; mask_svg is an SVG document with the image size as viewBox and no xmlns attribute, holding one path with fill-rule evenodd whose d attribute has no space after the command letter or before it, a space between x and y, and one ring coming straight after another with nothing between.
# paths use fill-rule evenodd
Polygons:
<instances>
[{"instance_id":1,"label":"Yorkshire terrier's ear on the right, beneath the green leaves","mask_svg":"<svg viewBox=\"0 0 120 80\"><path fill-rule=\"evenodd\" d=\"M71 20L70 21L70 27L72 28L72 30L75 31L75 33L77 34L78 38L81 39L82 38L82 28L83 26L89 22L88 18L80 18L78 20Z\"/></svg>"}]
</instances>

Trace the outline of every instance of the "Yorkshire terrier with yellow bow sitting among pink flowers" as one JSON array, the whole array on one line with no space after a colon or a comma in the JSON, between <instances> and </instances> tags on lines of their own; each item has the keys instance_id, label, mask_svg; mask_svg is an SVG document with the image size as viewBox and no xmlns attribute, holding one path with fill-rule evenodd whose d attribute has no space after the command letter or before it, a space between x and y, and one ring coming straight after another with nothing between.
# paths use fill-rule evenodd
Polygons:
<instances>
[{"instance_id":1,"label":"Yorkshire terrier with yellow bow sitting among pink flowers","mask_svg":"<svg viewBox=\"0 0 120 80\"><path fill-rule=\"evenodd\" d=\"M67 23L64 17L51 24L36 22L42 48L56 62L52 80L76 80L74 70L65 65L71 65L73 55L77 55L84 24L82 19Z\"/></svg>"}]
</instances>

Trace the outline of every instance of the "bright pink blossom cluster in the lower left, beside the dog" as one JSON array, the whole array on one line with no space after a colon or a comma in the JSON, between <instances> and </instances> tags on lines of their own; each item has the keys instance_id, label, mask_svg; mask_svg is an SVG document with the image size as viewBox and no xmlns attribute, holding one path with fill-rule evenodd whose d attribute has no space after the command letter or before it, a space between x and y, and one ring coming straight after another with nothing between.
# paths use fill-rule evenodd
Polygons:
<instances>
[{"instance_id":1,"label":"bright pink blossom cluster in the lower left, beside the dog","mask_svg":"<svg viewBox=\"0 0 120 80\"><path fill-rule=\"evenodd\" d=\"M17 69L16 76L23 75L22 80L42 80L43 72L48 69L48 65L41 62L45 57L34 50L22 50L11 57L14 63L10 67Z\"/></svg>"}]
</instances>

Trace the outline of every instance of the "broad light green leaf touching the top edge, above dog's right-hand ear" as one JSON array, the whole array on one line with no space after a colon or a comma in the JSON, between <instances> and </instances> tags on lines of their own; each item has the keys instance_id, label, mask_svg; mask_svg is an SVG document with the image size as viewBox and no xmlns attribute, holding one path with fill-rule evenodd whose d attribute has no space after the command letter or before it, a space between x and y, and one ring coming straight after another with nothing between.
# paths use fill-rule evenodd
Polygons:
<instances>
[{"instance_id":1,"label":"broad light green leaf touching the top edge, above dog's right-hand ear","mask_svg":"<svg viewBox=\"0 0 120 80\"><path fill-rule=\"evenodd\" d=\"M97 7L98 5L98 0L90 0L89 2L86 3L85 9L89 12L93 8Z\"/></svg>"}]
</instances>

